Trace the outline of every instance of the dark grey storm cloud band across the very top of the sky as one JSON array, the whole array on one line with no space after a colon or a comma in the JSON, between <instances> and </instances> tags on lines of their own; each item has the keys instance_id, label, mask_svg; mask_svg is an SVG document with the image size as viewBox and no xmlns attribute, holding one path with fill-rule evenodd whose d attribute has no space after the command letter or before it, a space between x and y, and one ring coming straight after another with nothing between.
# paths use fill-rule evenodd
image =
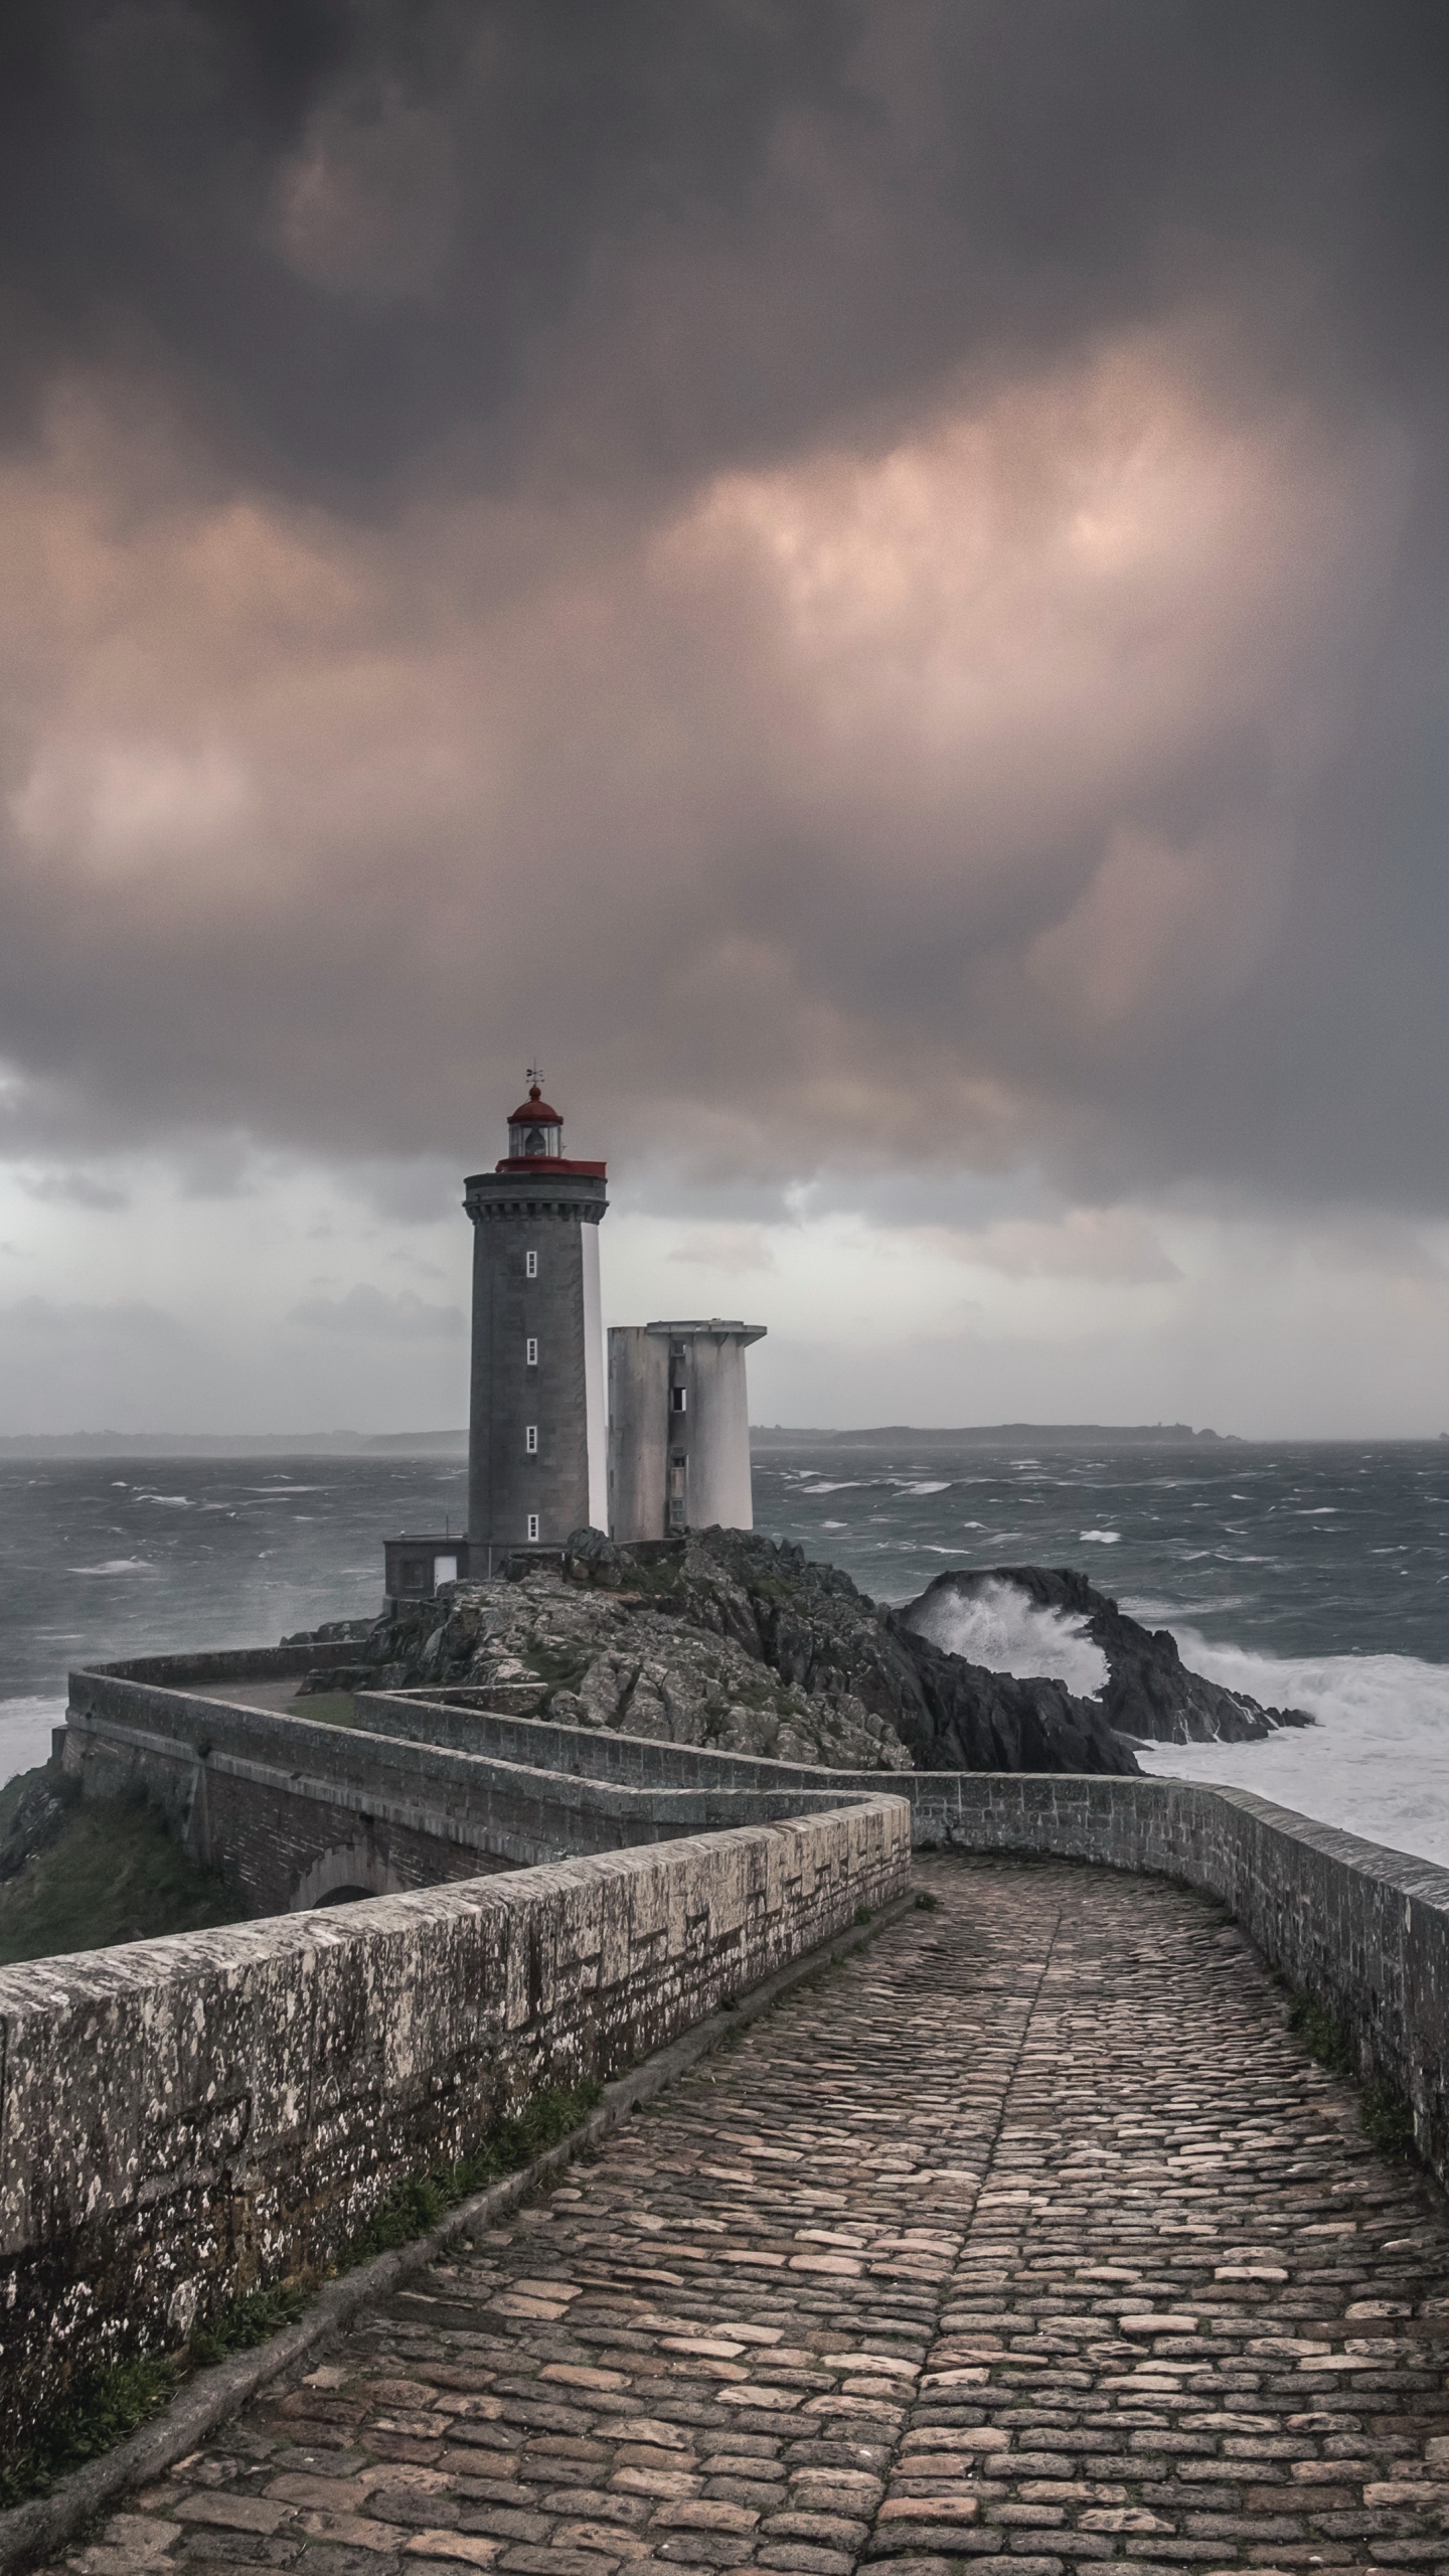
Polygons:
<instances>
[{"instance_id":1,"label":"dark grey storm cloud band across the very top of the sky","mask_svg":"<svg viewBox=\"0 0 1449 2576\"><path fill-rule=\"evenodd\" d=\"M1276 325L1284 263L1297 355L1418 374L1446 67L1408 0L21 0L3 258L31 392L173 363L253 469L330 492L516 440L554 366L614 379L634 464L694 469L1189 281Z\"/></svg>"}]
</instances>

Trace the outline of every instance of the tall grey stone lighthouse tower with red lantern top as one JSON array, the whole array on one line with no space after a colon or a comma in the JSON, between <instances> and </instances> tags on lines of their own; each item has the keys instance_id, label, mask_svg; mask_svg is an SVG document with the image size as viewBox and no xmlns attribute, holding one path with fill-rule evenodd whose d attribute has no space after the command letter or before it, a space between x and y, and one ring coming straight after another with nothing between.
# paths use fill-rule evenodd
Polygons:
<instances>
[{"instance_id":1,"label":"tall grey stone lighthouse tower with red lantern top","mask_svg":"<svg viewBox=\"0 0 1449 2576\"><path fill-rule=\"evenodd\" d=\"M536 1079L508 1154L464 1182L472 1218L472 1574L495 1553L608 1528L598 1221L606 1167L565 1159Z\"/></svg>"}]
</instances>

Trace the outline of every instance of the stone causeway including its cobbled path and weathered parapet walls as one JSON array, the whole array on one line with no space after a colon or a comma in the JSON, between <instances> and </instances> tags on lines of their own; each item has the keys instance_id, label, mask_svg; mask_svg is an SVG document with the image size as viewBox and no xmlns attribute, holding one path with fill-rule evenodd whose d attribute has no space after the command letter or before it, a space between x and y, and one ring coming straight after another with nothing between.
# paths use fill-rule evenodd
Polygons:
<instances>
[{"instance_id":1,"label":"stone causeway including its cobbled path and weathered parapet walls","mask_svg":"<svg viewBox=\"0 0 1449 2576\"><path fill-rule=\"evenodd\" d=\"M113 1780L129 1721L157 1780L325 1780L320 1734L358 1829L394 1801L454 1883L0 1973L10 2421L322 2264L531 2087L820 1973L263 2388L77 2576L1449 2576L1441 2190L1284 1994L1441 2174L1446 1873L1245 1793L843 1780L410 1695L358 1705L364 1777L345 1728L248 1710L263 1682L77 1677L67 1759ZM389 1767L420 1757L423 1821ZM575 1826L590 1857L544 1850Z\"/></svg>"}]
</instances>

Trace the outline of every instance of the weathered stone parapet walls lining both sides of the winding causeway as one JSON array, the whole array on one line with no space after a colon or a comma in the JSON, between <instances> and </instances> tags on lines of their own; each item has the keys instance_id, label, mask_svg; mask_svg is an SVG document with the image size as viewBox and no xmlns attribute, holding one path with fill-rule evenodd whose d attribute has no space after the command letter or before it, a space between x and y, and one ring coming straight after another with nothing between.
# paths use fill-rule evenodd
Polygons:
<instances>
[{"instance_id":1,"label":"weathered stone parapet walls lining both sides of the winding causeway","mask_svg":"<svg viewBox=\"0 0 1449 2576\"><path fill-rule=\"evenodd\" d=\"M400 1692L364 1695L358 1728L237 1705L315 1649L286 1654L77 1674L64 1757L93 1785L129 1762L170 1777L193 1847L199 1795L209 1834L229 1803L237 1850L260 1850L286 1793L312 1801L312 1832L333 1832L327 1808L415 1832L420 1870L469 1880L0 1971L0 2347L21 2414L77 2357L180 2331L193 2295L325 2259L529 2087L608 2074L830 1937L905 1883L910 1837L1217 1896L1346 2025L1359 2071L1408 2094L1449 2182L1446 1870L1178 1780L841 1775ZM717 1826L735 1829L699 1839ZM480 1852L539 1842L611 1857L477 1878Z\"/></svg>"}]
</instances>

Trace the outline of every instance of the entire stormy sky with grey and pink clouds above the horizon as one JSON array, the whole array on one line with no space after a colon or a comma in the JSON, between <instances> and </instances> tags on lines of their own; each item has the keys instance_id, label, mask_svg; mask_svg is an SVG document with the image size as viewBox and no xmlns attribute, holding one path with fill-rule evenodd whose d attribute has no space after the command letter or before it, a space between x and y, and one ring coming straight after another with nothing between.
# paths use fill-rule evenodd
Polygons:
<instances>
[{"instance_id":1,"label":"entire stormy sky with grey and pink clouds above the horizon","mask_svg":"<svg viewBox=\"0 0 1449 2576\"><path fill-rule=\"evenodd\" d=\"M10 0L0 1430L1449 1427L1449 21Z\"/></svg>"}]
</instances>

